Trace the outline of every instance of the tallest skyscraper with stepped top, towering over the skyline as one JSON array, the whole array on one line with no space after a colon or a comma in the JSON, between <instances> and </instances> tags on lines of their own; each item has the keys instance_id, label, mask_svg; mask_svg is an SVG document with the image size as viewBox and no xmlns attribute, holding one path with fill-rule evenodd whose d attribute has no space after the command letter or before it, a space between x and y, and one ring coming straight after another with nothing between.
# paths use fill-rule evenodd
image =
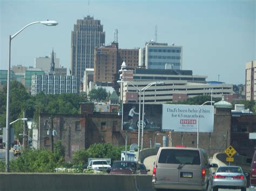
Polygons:
<instances>
[{"instance_id":1,"label":"tallest skyscraper with stepped top, towering over the skyline","mask_svg":"<svg viewBox=\"0 0 256 191\"><path fill-rule=\"evenodd\" d=\"M95 48L104 44L105 32L100 20L90 16L78 19L71 33L71 75L81 80L85 68L93 68Z\"/></svg>"}]
</instances>

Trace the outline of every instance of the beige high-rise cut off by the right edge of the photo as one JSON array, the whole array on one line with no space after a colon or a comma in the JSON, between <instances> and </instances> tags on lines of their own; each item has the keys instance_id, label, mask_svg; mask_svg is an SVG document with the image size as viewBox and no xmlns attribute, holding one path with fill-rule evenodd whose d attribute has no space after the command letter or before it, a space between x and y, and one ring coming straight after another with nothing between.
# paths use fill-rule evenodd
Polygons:
<instances>
[{"instance_id":1,"label":"beige high-rise cut off by the right edge of the photo","mask_svg":"<svg viewBox=\"0 0 256 191\"><path fill-rule=\"evenodd\" d=\"M246 100L256 100L256 60L245 65L245 96Z\"/></svg>"}]
</instances>

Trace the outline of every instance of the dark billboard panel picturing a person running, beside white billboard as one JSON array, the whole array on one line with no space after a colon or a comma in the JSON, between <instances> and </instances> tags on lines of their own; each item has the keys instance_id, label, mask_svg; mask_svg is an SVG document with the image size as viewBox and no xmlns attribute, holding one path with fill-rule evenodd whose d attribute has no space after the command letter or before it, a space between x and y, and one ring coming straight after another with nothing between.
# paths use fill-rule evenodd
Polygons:
<instances>
[{"instance_id":1,"label":"dark billboard panel picturing a person running, beside white billboard","mask_svg":"<svg viewBox=\"0 0 256 191\"><path fill-rule=\"evenodd\" d=\"M144 122L142 123L143 104L140 104L140 117L144 125L144 131L161 131L162 111L161 104L144 104ZM124 103L122 115L122 130L138 131L139 128L139 104Z\"/></svg>"}]
</instances>

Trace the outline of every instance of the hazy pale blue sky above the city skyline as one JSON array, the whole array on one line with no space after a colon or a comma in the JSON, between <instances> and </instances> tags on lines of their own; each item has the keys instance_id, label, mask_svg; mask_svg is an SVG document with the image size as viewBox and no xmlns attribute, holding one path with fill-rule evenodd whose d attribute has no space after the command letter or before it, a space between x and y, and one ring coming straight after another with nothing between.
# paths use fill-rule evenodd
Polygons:
<instances>
[{"instance_id":1,"label":"hazy pale blue sky above the city skyline","mask_svg":"<svg viewBox=\"0 0 256 191\"><path fill-rule=\"evenodd\" d=\"M77 19L99 19L105 44L118 30L119 48L145 43L183 46L182 69L207 81L245 84L245 63L256 60L255 0L0 0L0 69L8 69L9 36L25 25L56 20L57 26L31 25L11 40L11 66L34 66L50 56L70 68L71 31Z\"/></svg>"}]
</instances>

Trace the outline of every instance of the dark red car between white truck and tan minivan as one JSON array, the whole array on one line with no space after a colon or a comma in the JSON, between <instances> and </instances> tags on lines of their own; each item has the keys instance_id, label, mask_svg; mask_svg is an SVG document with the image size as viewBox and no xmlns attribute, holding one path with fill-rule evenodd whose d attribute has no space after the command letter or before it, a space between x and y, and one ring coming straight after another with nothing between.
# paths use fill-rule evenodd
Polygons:
<instances>
[{"instance_id":1,"label":"dark red car between white truck and tan minivan","mask_svg":"<svg viewBox=\"0 0 256 191\"><path fill-rule=\"evenodd\" d=\"M139 163L137 161L114 161L110 174L139 174Z\"/></svg>"}]
</instances>

